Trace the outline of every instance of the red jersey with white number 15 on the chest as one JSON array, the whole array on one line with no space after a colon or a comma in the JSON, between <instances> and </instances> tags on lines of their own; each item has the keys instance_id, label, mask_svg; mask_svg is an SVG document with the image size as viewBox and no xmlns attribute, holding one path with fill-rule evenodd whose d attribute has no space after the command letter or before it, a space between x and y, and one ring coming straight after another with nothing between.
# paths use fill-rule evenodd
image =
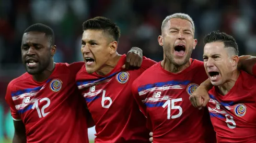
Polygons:
<instances>
[{"instance_id":1,"label":"red jersey with white number 15 on the chest","mask_svg":"<svg viewBox=\"0 0 256 143\"><path fill-rule=\"evenodd\" d=\"M207 109L198 110L189 100L208 78L203 62L191 62L190 67L177 74L166 71L159 62L133 82L134 98L147 116L154 143L216 142Z\"/></svg>"}]
</instances>

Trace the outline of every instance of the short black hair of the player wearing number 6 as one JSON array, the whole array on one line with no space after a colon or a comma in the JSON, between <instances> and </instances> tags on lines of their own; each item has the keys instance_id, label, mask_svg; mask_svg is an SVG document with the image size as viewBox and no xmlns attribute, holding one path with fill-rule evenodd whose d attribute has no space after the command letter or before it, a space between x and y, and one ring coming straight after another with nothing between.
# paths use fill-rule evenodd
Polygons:
<instances>
[{"instance_id":1,"label":"short black hair of the player wearing number 6","mask_svg":"<svg viewBox=\"0 0 256 143\"><path fill-rule=\"evenodd\" d=\"M95 17L86 20L83 23L83 30L103 30L103 32L108 32L109 35L113 36L115 41L119 41L120 29L117 24L113 23L110 19L106 17Z\"/></svg>"}]
</instances>

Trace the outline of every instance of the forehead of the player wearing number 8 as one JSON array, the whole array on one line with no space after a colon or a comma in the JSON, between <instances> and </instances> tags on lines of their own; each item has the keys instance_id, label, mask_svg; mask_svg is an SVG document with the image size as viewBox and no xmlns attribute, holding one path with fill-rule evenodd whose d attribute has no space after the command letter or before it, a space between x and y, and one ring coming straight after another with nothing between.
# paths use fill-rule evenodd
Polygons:
<instances>
[{"instance_id":1,"label":"forehead of the player wearing number 8","mask_svg":"<svg viewBox=\"0 0 256 143\"><path fill-rule=\"evenodd\" d=\"M223 55L226 54L225 45L223 42L206 43L204 46L204 55Z\"/></svg>"}]
</instances>

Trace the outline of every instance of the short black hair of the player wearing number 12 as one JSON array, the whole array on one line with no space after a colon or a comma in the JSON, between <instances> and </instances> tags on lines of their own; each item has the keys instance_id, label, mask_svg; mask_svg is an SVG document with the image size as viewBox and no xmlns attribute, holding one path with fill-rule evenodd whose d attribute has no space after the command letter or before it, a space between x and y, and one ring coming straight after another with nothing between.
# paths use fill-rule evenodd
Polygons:
<instances>
[{"instance_id":1,"label":"short black hair of the player wearing number 12","mask_svg":"<svg viewBox=\"0 0 256 143\"><path fill-rule=\"evenodd\" d=\"M30 25L30 27L28 27L24 31L24 33L27 33L27 32L42 32L42 33L45 33L45 36L49 38L50 45L51 46L54 45L54 32L47 25L44 25L42 23L36 23L36 24Z\"/></svg>"}]
</instances>

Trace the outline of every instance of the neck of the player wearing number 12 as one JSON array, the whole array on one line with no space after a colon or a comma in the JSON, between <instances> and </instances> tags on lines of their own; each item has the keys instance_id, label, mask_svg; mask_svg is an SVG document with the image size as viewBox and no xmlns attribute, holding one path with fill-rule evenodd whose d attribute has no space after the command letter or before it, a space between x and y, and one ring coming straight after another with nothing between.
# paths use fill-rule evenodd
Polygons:
<instances>
[{"instance_id":1,"label":"neck of the player wearing number 12","mask_svg":"<svg viewBox=\"0 0 256 143\"><path fill-rule=\"evenodd\" d=\"M37 82L45 81L51 76L54 68L55 68L55 62L52 61L50 65L42 73L32 75L33 80Z\"/></svg>"}]
</instances>

